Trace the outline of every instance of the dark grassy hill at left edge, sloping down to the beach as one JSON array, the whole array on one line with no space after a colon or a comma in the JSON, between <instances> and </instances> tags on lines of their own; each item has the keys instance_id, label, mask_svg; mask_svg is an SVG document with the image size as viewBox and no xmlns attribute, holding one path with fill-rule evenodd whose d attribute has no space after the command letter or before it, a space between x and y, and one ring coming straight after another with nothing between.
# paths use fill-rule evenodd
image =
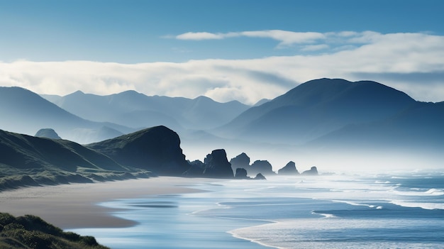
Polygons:
<instances>
[{"instance_id":1,"label":"dark grassy hill at left edge, sloping down to the beach","mask_svg":"<svg viewBox=\"0 0 444 249\"><path fill-rule=\"evenodd\" d=\"M69 140L38 138L2 130L0 154L0 189L140 175L140 170L124 167L106 155Z\"/></svg>"}]
</instances>

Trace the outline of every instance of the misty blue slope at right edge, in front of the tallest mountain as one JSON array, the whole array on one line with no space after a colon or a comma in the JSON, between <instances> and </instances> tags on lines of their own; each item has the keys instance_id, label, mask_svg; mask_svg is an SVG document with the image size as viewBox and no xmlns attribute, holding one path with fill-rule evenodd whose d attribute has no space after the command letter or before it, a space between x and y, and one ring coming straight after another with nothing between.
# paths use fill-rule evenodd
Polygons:
<instances>
[{"instance_id":1,"label":"misty blue slope at right edge, in front of the tallest mountain","mask_svg":"<svg viewBox=\"0 0 444 249\"><path fill-rule=\"evenodd\" d=\"M324 148L406 148L442 154L444 102L416 102L382 121L350 124L309 143Z\"/></svg>"}]
</instances>

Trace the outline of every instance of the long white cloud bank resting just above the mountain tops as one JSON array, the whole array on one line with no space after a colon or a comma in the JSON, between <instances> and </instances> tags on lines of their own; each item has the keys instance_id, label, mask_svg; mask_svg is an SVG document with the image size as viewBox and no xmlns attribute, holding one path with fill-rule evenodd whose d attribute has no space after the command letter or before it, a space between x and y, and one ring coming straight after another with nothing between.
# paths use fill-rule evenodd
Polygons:
<instances>
[{"instance_id":1,"label":"long white cloud bank resting just above the mountain tops","mask_svg":"<svg viewBox=\"0 0 444 249\"><path fill-rule=\"evenodd\" d=\"M318 55L139 64L0 62L0 85L60 95L77 90L104 95L134 89L148 95L205 95L216 101L238 99L254 104L310 79L329 77L375 80L414 99L444 101L444 36L351 31L324 35L326 40L338 40L328 43L333 48Z\"/></svg>"}]
</instances>

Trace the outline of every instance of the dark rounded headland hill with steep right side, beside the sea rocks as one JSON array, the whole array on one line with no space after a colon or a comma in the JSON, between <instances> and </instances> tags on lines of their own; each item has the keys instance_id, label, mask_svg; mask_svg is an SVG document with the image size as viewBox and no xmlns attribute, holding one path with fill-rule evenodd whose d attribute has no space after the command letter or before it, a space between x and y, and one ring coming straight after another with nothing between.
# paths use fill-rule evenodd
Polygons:
<instances>
[{"instance_id":1,"label":"dark rounded headland hill with steep right side, beside the sea rocks","mask_svg":"<svg viewBox=\"0 0 444 249\"><path fill-rule=\"evenodd\" d=\"M159 175L179 176L189 169L180 148L179 135L165 126L146 128L87 147L121 165L150 170Z\"/></svg>"}]
</instances>

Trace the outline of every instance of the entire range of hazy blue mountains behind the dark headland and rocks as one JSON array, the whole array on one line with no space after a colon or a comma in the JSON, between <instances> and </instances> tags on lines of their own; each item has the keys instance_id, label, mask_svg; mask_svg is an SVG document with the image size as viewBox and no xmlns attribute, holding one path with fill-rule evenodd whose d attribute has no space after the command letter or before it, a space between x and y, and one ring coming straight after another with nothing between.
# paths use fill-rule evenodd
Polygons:
<instances>
[{"instance_id":1,"label":"entire range of hazy blue mountains behind the dark headland and rocks","mask_svg":"<svg viewBox=\"0 0 444 249\"><path fill-rule=\"evenodd\" d=\"M255 157L380 150L438 161L444 149L444 102L416 101L371 81L314 79L255 106L134 91L43 97L0 87L0 129L33 135L53 128L64 139L87 144L162 125L177 131L184 150L235 148L237 155L248 147Z\"/></svg>"}]
</instances>

